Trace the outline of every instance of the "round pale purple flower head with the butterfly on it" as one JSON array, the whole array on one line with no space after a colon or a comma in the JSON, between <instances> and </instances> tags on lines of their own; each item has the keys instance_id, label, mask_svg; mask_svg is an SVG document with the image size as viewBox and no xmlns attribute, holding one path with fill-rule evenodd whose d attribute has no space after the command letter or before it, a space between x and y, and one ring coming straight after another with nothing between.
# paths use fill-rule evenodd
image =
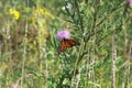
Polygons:
<instances>
[{"instance_id":1,"label":"round pale purple flower head with the butterfly on it","mask_svg":"<svg viewBox=\"0 0 132 88\"><path fill-rule=\"evenodd\" d=\"M59 31L57 33L57 38L59 41L64 40L64 38L69 38L70 37L70 33L67 31L67 30L63 30L63 31Z\"/></svg>"}]
</instances>

